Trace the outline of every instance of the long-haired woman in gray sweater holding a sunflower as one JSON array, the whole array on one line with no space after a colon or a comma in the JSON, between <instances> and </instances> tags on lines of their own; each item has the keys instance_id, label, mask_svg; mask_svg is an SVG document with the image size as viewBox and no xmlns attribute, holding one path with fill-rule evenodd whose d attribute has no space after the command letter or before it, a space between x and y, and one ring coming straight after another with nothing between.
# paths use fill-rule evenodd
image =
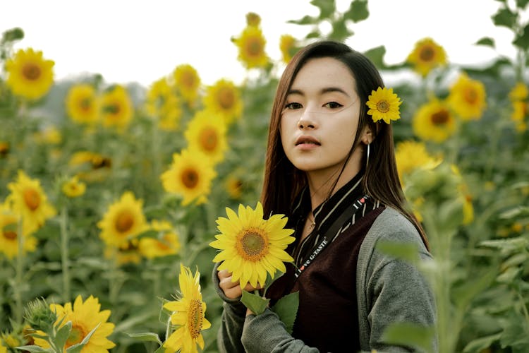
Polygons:
<instances>
[{"instance_id":1,"label":"long-haired woman in gray sweater holding a sunflower","mask_svg":"<svg viewBox=\"0 0 529 353\"><path fill-rule=\"evenodd\" d=\"M372 62L339 42L310 44L286 67L272 107L262 205L265 215L287 215L296 237L287 249L295 265L267 297L273 304L299 292L298 313L289 334L271 310L255 316L245 309L238 282L215 270L225 301L222 352L408 352L413 347L384 342L388 325L434 328L425 278L375 249L379 241L399 241L430 258L406 209L391 124L367 114L377 88L384 83Z\"/></svg>"}]
</instances>

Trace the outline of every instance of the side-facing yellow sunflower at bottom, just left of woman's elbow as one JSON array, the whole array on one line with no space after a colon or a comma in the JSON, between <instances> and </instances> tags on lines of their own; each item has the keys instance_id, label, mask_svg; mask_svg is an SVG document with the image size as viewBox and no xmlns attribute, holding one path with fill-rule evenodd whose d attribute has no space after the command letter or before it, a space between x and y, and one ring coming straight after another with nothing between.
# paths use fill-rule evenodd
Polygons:
<instances>
[{"instance_id":1,"label":"side-facing yellow sunflower at bottom, just left of woman's elbow","mask_svg":"<svg viewBox=\"0 0 529 353\"><path fill-rule=\"evenodd\" d=\"M200 273L180 264L178 284L182 297L178 301L169 301L164 309L171 311L171 324L176 330L164 342L165 352L196 353L197 345L204 349L202 330L211 327L205 318L206 303L200 292Z\"/></svg>"}]
</instances>

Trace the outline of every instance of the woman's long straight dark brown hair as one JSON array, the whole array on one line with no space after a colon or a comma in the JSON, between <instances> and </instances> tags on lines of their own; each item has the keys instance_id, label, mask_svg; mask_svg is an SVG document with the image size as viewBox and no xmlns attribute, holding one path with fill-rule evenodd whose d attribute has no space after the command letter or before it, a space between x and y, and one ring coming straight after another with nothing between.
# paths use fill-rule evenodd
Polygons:
<instances>
[{"instance_id":1,"label":"woman's long straight dark brown hair","mask_svg":"<svg viewBox=\"0 0 529 353\"><path fill-rule=\"evenodd\" d=\"M399 210L418 229L422 241L428 246L428 241L420 223L406 207L399 174L397 174L393 129L391 124L373 122L367 115L367 102L372 90L384 87L379 71L367 56L356 52L341 42L320 40L300 49L286 66L276 90L272 115L268 131L267 155L265 174L262 185L261 202L265 215L280 213L288 215L293 199L307 185L305 172L297 169L288 160L281 145L280 123L281 112L286 104L286 97L293 80L310 59L330 57L345 64L355 78L356 92L360 97L360 120L356 130L355 142L360 134L369 126L374 139L370 143L369 163L365 167L363 188L367 195L375 198L384 205ZM355 146L356 143L353 143ZM367 149L363 156L366 164ZM352 151L351 151L352 152Z\"/></svg>"}]
</instances>

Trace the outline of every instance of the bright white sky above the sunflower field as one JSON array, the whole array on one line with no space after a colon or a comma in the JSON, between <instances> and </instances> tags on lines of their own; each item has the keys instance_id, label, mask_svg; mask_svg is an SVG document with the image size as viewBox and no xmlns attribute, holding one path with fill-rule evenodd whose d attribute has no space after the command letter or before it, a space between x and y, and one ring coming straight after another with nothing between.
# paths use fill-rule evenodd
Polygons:
<instances>
[{"instance_id":1,"label":"bright white sky above the sunflower field","mask_svg":"<svg viewBox=\"0 0 529 353\"><path fill-rule=\"evenodd\" d=\"M266 51L280 59L279 37L304 37L307 26L286 23L316 15L310 0L1 0L0 31L23 28L15 49L32 47L55 61L56 79L101 73L107 83L149 85L179 64L193 65L205 84L245 76L231 36L245 27L245 14L262 18ZM349 0L336 0L345 11ZM432 37L449 61L478 64L513 57L513 35L490 18L495 0L369 0L370 17L352 26L351 47L385 45L388 64L401 63L415 42ZM497 52L473 45L493 37Z\"/></svg>"}]
</instances>

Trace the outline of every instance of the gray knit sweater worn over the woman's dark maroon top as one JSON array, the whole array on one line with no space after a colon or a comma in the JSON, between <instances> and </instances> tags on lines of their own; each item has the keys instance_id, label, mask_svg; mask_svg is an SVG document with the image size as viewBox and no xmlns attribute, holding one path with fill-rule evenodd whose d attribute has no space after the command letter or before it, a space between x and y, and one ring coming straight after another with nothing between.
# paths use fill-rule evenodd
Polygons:
<instances>
[{"instance_id":1,"label":"gray knit sweater worn over the woman's dark maroon top","mask_svg":"<svg viewBox=\"0 0 529 353\"><path fill-rule=\"evenodd\" d=\"M419 352L413 347L388 345L382 340L382 334L391 323L434 326L433 294L427 280L415 266L375 249L380 240L415 244L423 261L431 259L417 230L403 215L387 208L377 217L358 255L356 291L360 347L363 352L372 349L377 352ZM259 316L245 316L246 309L241 301L227 298L219 288L218 265L212 277L217 293L224 300L221 328L217 335L220 352L319 352L290 335L279 317L269 309ZM432 351L437 352L437 338L432 341Z\"/></svg>"}]
</instances>

